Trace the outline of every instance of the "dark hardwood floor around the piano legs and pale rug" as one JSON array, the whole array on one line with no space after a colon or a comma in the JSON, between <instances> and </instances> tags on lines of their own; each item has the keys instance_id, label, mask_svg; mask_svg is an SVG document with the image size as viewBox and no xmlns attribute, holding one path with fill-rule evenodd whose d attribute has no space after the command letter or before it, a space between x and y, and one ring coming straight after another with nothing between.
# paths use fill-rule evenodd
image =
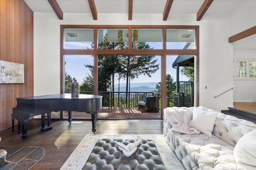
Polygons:
<instances>
[{"instance_id":1,"label":"dark hardwood floor around the piano legs and pale rug","mask_svg":"<svg viewBox=\"0 0 256 170\"><path fill-rule=\"evenodd\" d=\"M84 138L92 133L92 122L68 123L52 120L53 129L40 132L41 120L28 123L28 137L25 141L18 134L18 126L0 132L0 147L35 146L45 150L43 158L30 170L59 170L70 154ZM163 134L162 120L98 120L96 134Z\"/></svg>"}]
</instances>

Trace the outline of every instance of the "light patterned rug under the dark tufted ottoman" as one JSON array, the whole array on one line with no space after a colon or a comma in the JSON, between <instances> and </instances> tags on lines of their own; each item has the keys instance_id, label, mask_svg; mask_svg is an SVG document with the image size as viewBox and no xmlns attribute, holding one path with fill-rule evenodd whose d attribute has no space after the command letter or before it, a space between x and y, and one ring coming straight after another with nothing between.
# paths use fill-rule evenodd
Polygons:
<instances>
[{"instance_id":1,"label":"light patterned rug under the dark tufted ottoman","mask_svg":"<svg viewBox=\"0 0 256 170\"><path fill-rule=\"evenodd\" d=\"M166 143L163 135L86 135L62 165L60 170L81 170L84 167L98 139L153 139L164 162L166 170L185 170Z\"/></svg>"}]
</instances>

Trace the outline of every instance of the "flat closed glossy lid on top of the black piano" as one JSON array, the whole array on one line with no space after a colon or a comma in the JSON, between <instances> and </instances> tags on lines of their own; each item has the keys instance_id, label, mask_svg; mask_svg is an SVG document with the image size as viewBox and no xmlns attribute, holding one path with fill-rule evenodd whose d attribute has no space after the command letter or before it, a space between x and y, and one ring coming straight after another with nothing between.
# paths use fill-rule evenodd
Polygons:
<instances>
[{"instance_id":1,"label":"flat closed glossy lid on top of the black piano","mask_svg":"<svg viewBox=\"0 0 256 170\"><path fill-rule=\"evenodd\" d=\"M50 95L42 95L42 96L30 96L30 97L23 97L23 98L16 98L16 99L23 99L23 100L40 100L40 99L92 99L92 98L102 98L99 95L92 95L92 94L79 94L77 97L71 97L70 93L65 94L50 94Z\"/></svg>"}]
</instances>

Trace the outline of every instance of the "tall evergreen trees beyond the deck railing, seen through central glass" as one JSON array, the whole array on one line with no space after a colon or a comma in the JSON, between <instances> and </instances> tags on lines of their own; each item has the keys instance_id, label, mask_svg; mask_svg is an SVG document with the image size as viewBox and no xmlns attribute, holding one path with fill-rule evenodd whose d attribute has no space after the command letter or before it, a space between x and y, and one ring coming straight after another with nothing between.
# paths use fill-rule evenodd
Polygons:
<instances>
[{"instance_id":1,"label":"tall evergreen trees beyond the deck railing, seen through central glass","mask_svg":"<svg viewBox=\"0 0 256 170\"><path fill-rule=\"evenodd\" d=\"M122 40L122 29L118 30L118 42L108 42L108 33L103 37L103 41L98 43L98 49L128 49L128 43ZM138 30L133 33L133 49L150 49L150 45L145 42L138 42ZM93 48L92 43L92 48ZM151 77L159 69L156 64L155 56L116 56L116 55L99 55L98 56L98 90L114 92L114 78L126 80L126 92L128 92L128 80L138 78L139 75ZM85 65L93 71L92 65ZM118 81L119 83L120 81ZM119 91L119 90L118 90ZM114 96L113 96L114 97ZM128 96L126 95L126 105ZM114 100L112 100L114 101ZM113 103L114 104L114 103Z\"/></svg>"}]
</instances>

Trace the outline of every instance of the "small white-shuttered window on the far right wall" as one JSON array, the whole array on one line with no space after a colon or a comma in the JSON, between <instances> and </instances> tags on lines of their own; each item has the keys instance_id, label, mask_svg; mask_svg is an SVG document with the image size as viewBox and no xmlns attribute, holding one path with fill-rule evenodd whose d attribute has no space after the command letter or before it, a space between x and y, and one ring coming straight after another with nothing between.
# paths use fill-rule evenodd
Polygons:
<instances>
[{"instance_id":1,"label":"small white-shuttered window on the far right wall","mask_svg":"<svg viewBox=\"0 0 256 170\"><path fill-rule=\"evenodd\" d=\"M256 61L254 59L236 60L236 79L255 80Z\"/></svg>"}]
</instances>

